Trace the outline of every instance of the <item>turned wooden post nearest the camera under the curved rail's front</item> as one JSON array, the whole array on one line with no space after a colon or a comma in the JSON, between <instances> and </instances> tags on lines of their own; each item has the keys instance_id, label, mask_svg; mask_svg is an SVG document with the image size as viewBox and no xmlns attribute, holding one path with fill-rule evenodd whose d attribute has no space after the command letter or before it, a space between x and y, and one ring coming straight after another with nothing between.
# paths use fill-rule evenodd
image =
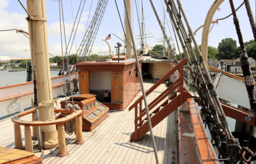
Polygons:
<instances>
[{"instance_id":1,"label":"turned wooden post nearest the camera under the curved rail's front","mask_svg":"<svg viewBox=\"0 0 256 164\"><path fill-rule=\"evenodd\" d=\"M65 138L65 127L64 124L58 124L58 142L59 142L59 148L57 156L66 156L69 155L69 152L67 152L66 148L66 138Z\"/></svg>"}]
</instances>

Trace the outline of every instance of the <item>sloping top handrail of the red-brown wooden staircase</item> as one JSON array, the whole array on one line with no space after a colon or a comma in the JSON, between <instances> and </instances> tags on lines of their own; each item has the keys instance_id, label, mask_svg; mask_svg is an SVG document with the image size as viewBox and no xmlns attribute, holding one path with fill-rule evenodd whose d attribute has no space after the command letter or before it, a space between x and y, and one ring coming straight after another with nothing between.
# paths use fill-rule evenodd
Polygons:
<instances>
[{"instance_id":1,"label":"sloping top handrail of the red-brown wooden staircase","mask_svg":"<svg viewBox=\"0 0 256 164\"><path fill-rule=\"evenodd\" d=\"M187 59L184 58L182 59L176 66L173 67L173 69L169 70L169 72L167 72L162 78L160 78L157 83L155 83L148 91L146 91L146 96L149 95L150 93L152 93L160 84L163 83L163 81L171 76L172 74L175 73L175 71L177 71L180 67L182 67L185 63L187 62ZM134 104L132 104L130 107L129 107L129 111L131 111L140 101L143 100L143 96L140 96L140 98L138 98Z\"/></svg>"}]
</instances>

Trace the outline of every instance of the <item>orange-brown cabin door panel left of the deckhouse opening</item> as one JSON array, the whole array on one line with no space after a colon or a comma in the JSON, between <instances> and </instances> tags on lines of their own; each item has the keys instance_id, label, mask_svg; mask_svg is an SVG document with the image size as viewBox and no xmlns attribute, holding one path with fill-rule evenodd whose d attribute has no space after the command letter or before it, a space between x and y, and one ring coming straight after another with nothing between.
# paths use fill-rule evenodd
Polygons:
<instances>
[{"instance_id":1,"label":"orange-brown cabin door panel left of the deckhouse opening","mask_svg":"<svg viewBox=\"0 0 256 164\"><path fill-rule=\"evenodd\" d=\"M79 71L79 94L90 94L89 71Z\"/></svg>"}]
</instances>

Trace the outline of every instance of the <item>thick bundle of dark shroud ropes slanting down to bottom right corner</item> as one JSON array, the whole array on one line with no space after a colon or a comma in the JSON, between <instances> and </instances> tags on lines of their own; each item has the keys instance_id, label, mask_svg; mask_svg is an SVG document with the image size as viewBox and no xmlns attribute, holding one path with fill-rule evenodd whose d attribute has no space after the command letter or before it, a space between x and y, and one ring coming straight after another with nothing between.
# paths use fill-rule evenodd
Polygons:
<instances>
[{"instance_id":1,"label":"thick bundle of dark shroud ropes slanting down to bottom right corner","mask_svg":"<svg viewBox=\"0 0 256 164\"><path fill-rule=\"evenodd\" d=\"M230 131L230 128L226 120L226 116L221 107L216 90L214 89L214 86L210 79L207 67L203 61L201 51L198 47L195 36L193 35L193 31L190 28L189 22L186 18L181 2L180 0L177 0L178 8L179 8L178 9L176 7L174 0L171 0L171 1L164 0L164 1L167 7L167 12L169 13L169 16L170 16L173 29L176 30L176 33L178 34L178 38L183 48L183 52L186 58L188 59L188 68L193 77L194 85L198 90L198 94L199 94L201 104L202 104L202 109L203 109L202 111L203 111L203 115L205 116L207 126L209 129L211 129L212 140L215 141L215 144L223 145L225 148L230 150L228 152L224 152L224 151L220 152L222 158L230 159L226 161L223 159L225 163L237 163L238 160L236 157L234 157L234 155L236 155L236 152L242 151L242 148L239 146L239 142L236 139L234 139L234 137L232 136L232 133ZM151 0L150 2L156 14L154 5ZM188 33L185 29L181 16L183 16L185 20ZM159 21L157 14L156 14L156 17ZM162 29L162 24L160 23L160 21L159 21L159 25ZM164 34L163 29L162 31ZM197 60L195 51L193 49L193 46L191 45L191 41L194 42L194 45L196 47L197 53L200 58L199 61ZM200 64L201 64L201 67L200 67ZM221 135L221 134L224 134L224 135ZM224 142L225 144L222 144ZM230 145L234 145L234 146L231 149L229 149Z\"/></svg>"}]
</instances>

